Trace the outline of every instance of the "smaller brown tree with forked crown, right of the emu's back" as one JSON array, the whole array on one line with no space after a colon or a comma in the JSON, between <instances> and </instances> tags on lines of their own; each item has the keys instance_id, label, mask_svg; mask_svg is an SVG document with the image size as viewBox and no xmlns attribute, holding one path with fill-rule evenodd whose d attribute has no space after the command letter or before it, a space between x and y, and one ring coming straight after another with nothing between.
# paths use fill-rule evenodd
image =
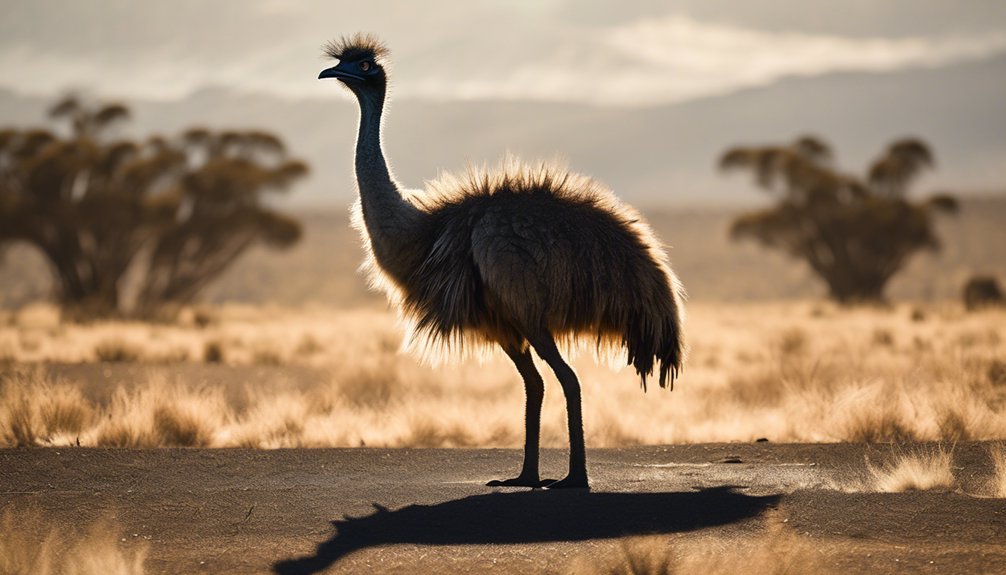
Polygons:
<instances>
[{"instance_id":1,"label":"smaller brown tree with forked crown, right of the emu's back","mask_svg":"<svg viewBox=\"0 0 1006 575\"><path fill-rule=\"evenodd\" d=\"M887 281L912 253L939 249L934 215L958 209L946 194L921 202L906 197L933 164L929 146L916 139L892 143L865 178L839 172L831 148L813 137L731 148L720 169L751 171L775 204L737 217L730 235L806 261L840 303L883 301Z\"/></svg>"}]
</instances>

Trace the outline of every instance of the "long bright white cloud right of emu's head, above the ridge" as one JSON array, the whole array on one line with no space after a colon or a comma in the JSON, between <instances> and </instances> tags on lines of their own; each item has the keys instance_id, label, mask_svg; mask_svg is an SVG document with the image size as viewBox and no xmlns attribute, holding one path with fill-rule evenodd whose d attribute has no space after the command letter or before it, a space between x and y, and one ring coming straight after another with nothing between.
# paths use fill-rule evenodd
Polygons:
<instances>
[{"instance_id":1,"label":"long bright white cloud right of emu's head, above the ridge","mask_svg":"<svg viewBox=\"0 0 1006 575\"><path fill-rule=\"evenodd\" d=\"M508 73L433 76L409 89L436 99L647 106L728 93L792 75L943 66L1003 51L1006 32L852 38L772 33L671 15L602 30Z\"/></svg>"}]
</instances>

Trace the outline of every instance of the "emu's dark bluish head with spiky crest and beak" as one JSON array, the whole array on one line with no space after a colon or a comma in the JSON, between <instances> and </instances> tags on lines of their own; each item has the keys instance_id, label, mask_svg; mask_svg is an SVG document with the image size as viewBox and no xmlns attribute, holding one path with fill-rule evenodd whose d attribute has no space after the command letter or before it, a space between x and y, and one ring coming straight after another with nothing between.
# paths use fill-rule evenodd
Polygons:
<instances>
[{"instance_id":1,"label":"emu's dark bluish head with spiky crest and beak","mask_svg":"<svg viewBox=\"0 0 1006 575\"><path fill-rule=\"evenodd\" d=\"M380 40L369 34L355 34L329 42L323 49L325 55L339 60L339 63L322 70L318 79L334 77L357 97L371 93L383 95L387 87L384 59L388 51Z\"/></svg>"}]
</instances>

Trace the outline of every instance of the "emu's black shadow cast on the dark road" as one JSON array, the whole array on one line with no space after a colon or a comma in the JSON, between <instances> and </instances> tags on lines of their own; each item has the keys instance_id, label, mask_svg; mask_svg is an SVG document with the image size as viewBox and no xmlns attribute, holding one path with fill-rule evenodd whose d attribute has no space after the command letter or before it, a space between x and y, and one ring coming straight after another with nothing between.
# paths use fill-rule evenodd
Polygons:
<instances>
[{"instance_id":1,"label":"emu's black shadow cast on the dark road","mask_svg":"<svg viewBox=\"0 0 1006 575\"><path fill-rule=\"evenodd\" d=\"M731 488L694 493L532 491L472 496L396 511L373 504L366 517L332 522L336 534L309 557L273 565L281 575L325 570L350 553L394 544L520 544L668 534L758 516L779 496L752 497Z\"/></svg>"}]
</instances>

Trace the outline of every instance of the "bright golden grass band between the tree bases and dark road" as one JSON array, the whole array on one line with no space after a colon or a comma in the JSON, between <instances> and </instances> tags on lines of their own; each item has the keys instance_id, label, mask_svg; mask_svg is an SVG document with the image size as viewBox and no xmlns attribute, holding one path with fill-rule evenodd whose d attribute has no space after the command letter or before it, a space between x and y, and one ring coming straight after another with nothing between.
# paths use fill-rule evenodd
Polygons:
<instances>
[{"instance_id":1,"label":"bright golden grass band between the tree bases and dark road","mask_svg":"<svg viewBox=\"0 0 1006 575\"><path fill-rule=\"evenodd\" d=\"M673 392L643 393L631 370L612 371L591 354L574 361L588 444L1006 438L1006 312L933 305L919 320L919 309L693 305L692 352ZM522 445L523 388L502 354L420 365L398 352L401 334L382 310L200 314L211 320L75 325L33 308L0 326L11 358L0 364L0 445ZM149 366L121 389L39 367L95 361L109 342ZM186 381L172 369L181 358L280 366L277 377L292 379L253 387L217 368L217 380ZM539 368L542 444L561 447L564 403Z\"/></svg>"}]
</instances>

